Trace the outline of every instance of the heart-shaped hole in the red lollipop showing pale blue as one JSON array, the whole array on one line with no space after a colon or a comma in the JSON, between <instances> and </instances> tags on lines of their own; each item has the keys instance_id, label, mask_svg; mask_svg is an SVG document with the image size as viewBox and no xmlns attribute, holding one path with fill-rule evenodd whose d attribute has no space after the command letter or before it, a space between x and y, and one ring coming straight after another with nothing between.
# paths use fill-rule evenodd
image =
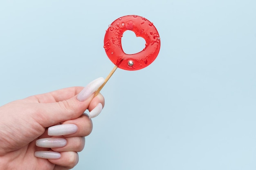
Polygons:
<instances>
[{"instance_id":1,"label":"heart-shaped hole in the red lollipop showing pale blue","mask_svg":"<svg viewBox=\"0 0 256 170\"><path fill-rule=\"evenodd\" d=\"M126 54L135 54L145 48L146 41L142 37L136 37L133 31L127 30L123 34L121 43Z\"/></svg>"}]
</instances>

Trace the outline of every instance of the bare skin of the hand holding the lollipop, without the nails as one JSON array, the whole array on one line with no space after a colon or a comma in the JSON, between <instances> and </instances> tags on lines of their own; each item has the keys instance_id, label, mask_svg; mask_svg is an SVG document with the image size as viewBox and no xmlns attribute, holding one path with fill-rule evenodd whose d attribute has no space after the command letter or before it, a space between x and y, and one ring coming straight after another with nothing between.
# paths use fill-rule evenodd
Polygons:
<instances>
[{"instance_id":1,"label":"bare skin of the hand holding the lollipop, without the nails","mask_svg":"<svg viewBox=\"0 0 256 170\"><path fill-rule=\"evenodd\" d=\"M83 87L70 87L34 95L0 107L0 167L4 170L67 170L78 163L78 154L85 145L84 137L92 132L92 121L84 111L98 103L104 106L101 94L79 102L76 95ZM40 148L36 140L49 137L47 127L76 124L72 135L58 136L67 140L62 148ZM39 150L61 153L60 159L34 157Z\"/></svg>"}]
</instances>

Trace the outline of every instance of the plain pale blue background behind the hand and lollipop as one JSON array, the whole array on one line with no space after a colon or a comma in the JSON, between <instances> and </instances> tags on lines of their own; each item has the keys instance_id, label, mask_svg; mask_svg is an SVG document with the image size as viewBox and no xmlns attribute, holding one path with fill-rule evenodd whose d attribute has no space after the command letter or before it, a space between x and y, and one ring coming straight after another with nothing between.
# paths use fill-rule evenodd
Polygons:
<instances>
[{"instance_id":1,"label":"plain pale blue background behind the hand and lollipop","mask_svg":"<svg viewBox=\"0 0 256 170\"><path fill-rule=\"evenodd\" d=\"M2 0L0 105L106 77L105 30L124 15L154 23L160 53L111 77L74 169L255 170L255 0Z\"/></svg>"}]
</instances>

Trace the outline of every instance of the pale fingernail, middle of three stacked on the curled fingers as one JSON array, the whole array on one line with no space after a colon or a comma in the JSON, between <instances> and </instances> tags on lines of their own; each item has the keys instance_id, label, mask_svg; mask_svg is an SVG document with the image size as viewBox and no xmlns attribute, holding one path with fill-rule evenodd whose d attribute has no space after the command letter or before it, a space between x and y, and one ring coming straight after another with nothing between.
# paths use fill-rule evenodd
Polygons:
<instances>
[{"instance_id":1,"label":"pale fingernail, middle of three stacked on the curled fingers","mask_svg":"<svg viewBox=\"0 0 256 170\"><path fill-rule=\"evenodd\" d=\"M49 137L36 140L36 146L42 148L61 148L66 146L67 140L64 138Z\"/></svg>"}]
</instances>

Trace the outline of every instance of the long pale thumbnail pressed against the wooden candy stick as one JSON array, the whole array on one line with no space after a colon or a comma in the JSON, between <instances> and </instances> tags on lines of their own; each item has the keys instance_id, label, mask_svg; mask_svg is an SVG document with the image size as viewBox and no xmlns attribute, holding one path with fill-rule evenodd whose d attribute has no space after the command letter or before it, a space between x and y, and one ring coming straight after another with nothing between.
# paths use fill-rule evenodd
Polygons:
<instances>
[{"instance_id":1,"label":"long pale thumbnail pressed against the wooden candy stick","mask_svg":"<svg viewBox=\"0 0 256 170\"><path fill-rule=\"evenodd\" d=\"M76 96L76 99L78 99L80 102L85 101L94 93L103 83L105 82L105 79L103 77L99 77L97 79L94 79L92 82L90 82L83 90Z\"/></svg>"}]
</instances>

